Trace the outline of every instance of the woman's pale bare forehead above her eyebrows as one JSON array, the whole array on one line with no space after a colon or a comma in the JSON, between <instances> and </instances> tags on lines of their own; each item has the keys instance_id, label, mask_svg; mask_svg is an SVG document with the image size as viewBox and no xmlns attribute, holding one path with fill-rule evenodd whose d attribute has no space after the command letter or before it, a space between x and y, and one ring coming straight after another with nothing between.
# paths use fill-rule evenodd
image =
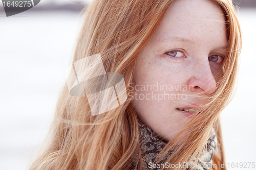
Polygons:
<instances>
[{"instance_id":1,"label":"woman's pale bare forehead above her eyebrows","mask_svg":"<svg viewBox=\"0 0 256 170\"><path fill-rule=\"evenodd\" d=\"M222 8L214 1L176 0L167 10L153 39L182 40L202 44L219 43L225 46L227 44L225 21Z\"/></svg>"}]
</instances>

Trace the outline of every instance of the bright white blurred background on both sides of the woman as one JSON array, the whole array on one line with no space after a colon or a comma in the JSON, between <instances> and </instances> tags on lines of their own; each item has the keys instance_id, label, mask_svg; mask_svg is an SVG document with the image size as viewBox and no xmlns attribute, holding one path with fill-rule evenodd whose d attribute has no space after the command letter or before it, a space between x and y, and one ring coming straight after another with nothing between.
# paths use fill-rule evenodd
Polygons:
<instances>
[{"instance_id":1,"label":"bright white blurred background on both sides of the woman","mask_svg":"<svg viewBox=\"0 0 256 170\"><path fill-rule=\"evenodd\" d=\"M40 149L65 83L79 10L86 3L90 1L44 0L10 17L0 3L0 169L25 170ZM256 8L242 7L238 16L243 36L239 86L221 115L230 165L256 164Z\"/></svg>"}]
</instances>

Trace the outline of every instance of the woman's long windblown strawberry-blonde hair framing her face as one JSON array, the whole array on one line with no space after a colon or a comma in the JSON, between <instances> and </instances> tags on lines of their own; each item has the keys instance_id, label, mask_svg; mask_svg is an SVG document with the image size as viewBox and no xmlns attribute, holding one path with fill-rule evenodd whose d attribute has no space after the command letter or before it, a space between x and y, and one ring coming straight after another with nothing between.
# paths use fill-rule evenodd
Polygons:
<instances>
[{"instance_id":1,"label":"woman's long windblown strawberry-blonde hair framing her face","mask_svg":"<svg viewBox=\"0 0 256 170\"><path fill-rule=\"evenodd\" d=\"M219 115L232 99L236 86L241 32L231 0L212 1L219 4L226 15L228 54L223 62L223 76L217 82L215 92L207 96L199 116L168 142L159 157L176 147L166 162L186 162L190 155L189 160L198 159L214 127L218 137L214 163L220 169L219 163L225 160ZM129 84L134 82L138 54L172 3L172 0L94 1L83 10L72 63L99 53L105 71L122 74L126 90L132 91ZM187 128L189 133L178 138ZM130 169L135 155L139 155L136 166L142 169L138 117L131 100L93 116L87 97L70 95L65 83L59 94L48 141L30 169Z\"/></svg>"}]
</instances>

